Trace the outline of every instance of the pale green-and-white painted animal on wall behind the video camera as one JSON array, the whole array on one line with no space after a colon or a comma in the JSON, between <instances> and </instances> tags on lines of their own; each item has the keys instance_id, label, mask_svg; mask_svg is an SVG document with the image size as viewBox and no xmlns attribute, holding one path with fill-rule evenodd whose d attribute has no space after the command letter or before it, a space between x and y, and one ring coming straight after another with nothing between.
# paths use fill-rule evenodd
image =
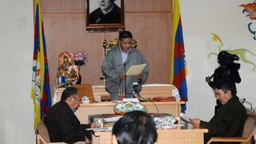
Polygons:
<instances>
[{"instance_id":1,"label":"pale green-and-white painted animal on wall behind the video camera","mask_svg":"<svg viewBox=\"0 0 256 144\"><path fill-rule=\"evenodd\" d=\"M226 51L231 53L232 55L235 54L239 56L238 62L241 60L244 63L248 63L252 65L252 71L256 72L256 53L252 53L248 49L240 48L240 49L232 49L231 45L226 45L222 42L219 36L215 33L211 33L210 36L212 37L210 43L216 49L216 52L210 52L208 57L216 56L219 52Z\"/></svg>"}]
</instances>

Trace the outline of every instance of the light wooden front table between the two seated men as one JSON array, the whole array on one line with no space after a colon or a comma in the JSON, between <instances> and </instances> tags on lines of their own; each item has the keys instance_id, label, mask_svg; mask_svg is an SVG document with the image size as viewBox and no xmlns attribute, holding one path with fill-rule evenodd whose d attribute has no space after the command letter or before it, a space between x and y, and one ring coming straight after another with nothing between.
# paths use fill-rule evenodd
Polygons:
<instances>
[{"instance_id":1,"label":"light wooden front table between the two seated men","mask_svg":"<svg viewBox=\"0 0 256 144\"><path fill-rule=\"evenodd\" d=\"M184 127L178 127L172 130L158 130L159 144L172 144L172 143L186 143L186 144L203 144L203 133L207 133L207 129L200 127L193 127L191 124L187 124ZM94 144L111 144L112 134L111 132L95 132L92 136Z\"/></svg>"}]
</instances>

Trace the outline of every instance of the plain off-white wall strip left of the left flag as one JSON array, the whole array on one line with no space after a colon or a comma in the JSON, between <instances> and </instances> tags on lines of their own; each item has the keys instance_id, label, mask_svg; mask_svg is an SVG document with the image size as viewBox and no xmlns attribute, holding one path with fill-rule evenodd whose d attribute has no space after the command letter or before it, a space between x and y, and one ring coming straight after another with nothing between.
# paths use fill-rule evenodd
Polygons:
<instances>
[{"instance_id":1,"label":"plain off-white wall strip left of the left flag","mask_svg":"<svg viewBox=\"0 0 256 144\"><path fill-rule=\"evenodd\" d=\"M30 98L33 1L0 4L0 143L36 143Z\"/></svg>"}]
</instances>

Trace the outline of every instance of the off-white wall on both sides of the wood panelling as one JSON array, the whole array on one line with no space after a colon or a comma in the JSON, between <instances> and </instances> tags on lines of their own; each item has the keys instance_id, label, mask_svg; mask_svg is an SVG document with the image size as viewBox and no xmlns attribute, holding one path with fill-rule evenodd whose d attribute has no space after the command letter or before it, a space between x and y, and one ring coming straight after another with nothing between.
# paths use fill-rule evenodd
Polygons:
<instances>
[{"instance_id":1,"label":"off-white wall on both sides of the wood panelling","mask_svg":"<svg viewBox=\"0 0 256 144\"><path fill-rule=\"evenodd\" d=\"M180 0L184 44L188 67L187 114L209 120L215 98L204 81L216 68L207 58L210 33L218 34L232 49L244 47L256 53L255 42L242 14L241 4L252 1ZM0 143L35 143L33 101L30 98L33 59L33 1L2 0L0 5ZM240 98L254 107L256 73L241 63Z\"/></svg>"}]
</instances>

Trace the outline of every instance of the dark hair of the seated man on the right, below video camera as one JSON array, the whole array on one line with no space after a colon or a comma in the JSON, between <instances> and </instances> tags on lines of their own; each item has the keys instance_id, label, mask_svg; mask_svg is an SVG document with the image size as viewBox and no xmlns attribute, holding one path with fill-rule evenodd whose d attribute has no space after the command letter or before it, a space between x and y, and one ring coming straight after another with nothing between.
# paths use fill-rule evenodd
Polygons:
<instances>
[{"instance_id":1,"label":"dark hair of the seated man on the right, below video camera","mask_svg":"<svg viewBox=\"0 0 256 144\"><path fill-rule=\"evenodd\" d=\"M222 89L222 91L225 94L229 90L229 91L231 91L232 96L235 95L235 89L231 82L216 81L216 82L213 82L212 88L213 89Z\"/></svg>"}]
</instances>

